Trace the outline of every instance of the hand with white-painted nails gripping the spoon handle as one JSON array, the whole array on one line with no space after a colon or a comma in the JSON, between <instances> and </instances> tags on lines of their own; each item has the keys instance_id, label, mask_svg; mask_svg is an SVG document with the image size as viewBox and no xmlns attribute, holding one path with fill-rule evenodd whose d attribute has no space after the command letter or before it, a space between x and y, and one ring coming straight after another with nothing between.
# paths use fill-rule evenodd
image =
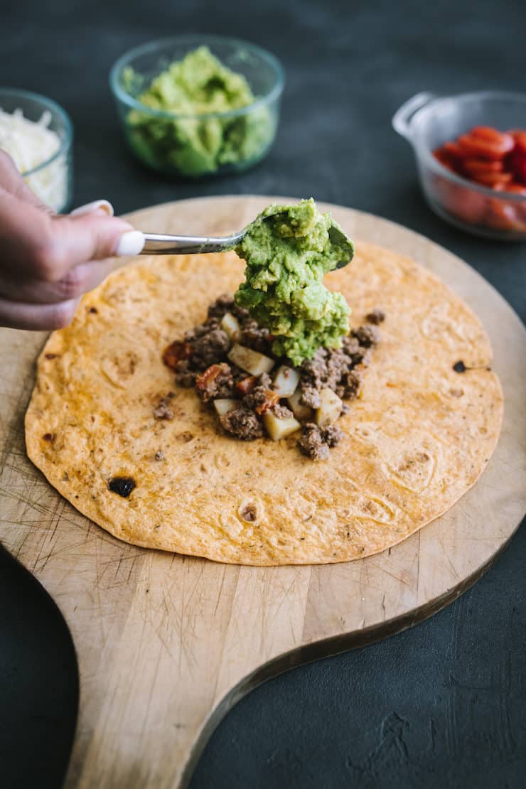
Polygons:
<instances>
[{"instance_id":1,"label":"hand with white-painted nails gripping the spoon handle","mask_svg":"<svg viewBox=\"0 0 526 789\"><path fill-rule=\"evenodd\" d=\"M67 326L80 296L111 271L105 259L137 255L143 245L106 200L55 215L0 151L0 326Z\"/></svg>"}]
</instances>

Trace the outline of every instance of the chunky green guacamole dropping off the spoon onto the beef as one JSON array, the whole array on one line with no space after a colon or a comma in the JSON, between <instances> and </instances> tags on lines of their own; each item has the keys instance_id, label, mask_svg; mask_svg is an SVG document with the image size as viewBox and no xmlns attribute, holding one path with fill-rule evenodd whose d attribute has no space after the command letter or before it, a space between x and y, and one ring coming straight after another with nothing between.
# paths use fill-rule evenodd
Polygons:
<instances>
[{"instance_id":1,"label":"chunky green guacamole dropping off the spoon onto the beef","mask_svg":"<svg viewBox=\"0 0 526 789\"><path fill-rule=\"evenodd\" d=\"M236 252L247 264L236 302L275 336L277 356L300 365L319 347L341 345L349 333L349 306L342 294L326 289L323 276L352 260L354 246L312 198L266 208Z\"/></svg>"}]
</instances>

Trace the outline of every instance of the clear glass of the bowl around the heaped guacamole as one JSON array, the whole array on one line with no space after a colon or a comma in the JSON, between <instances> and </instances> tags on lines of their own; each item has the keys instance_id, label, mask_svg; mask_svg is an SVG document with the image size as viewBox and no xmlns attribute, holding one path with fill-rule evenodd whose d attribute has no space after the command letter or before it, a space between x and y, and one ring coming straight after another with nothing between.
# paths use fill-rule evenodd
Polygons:
<instances>
[{"instance_id":1,"label":"clear glass of the bowl around the heaped guacamole","mask_svg":"<svg viewBox=\"0 0 526 789\"><path fill-rule=\"evenodd\" d=\"M154 110L140 102L151 80L201 46L248 80L256 96L252 104L229 112L188 115ZM223 36L152 41L124 54L110 72L110 88L129 148L154 170L185 178L239 172L261 161L274 142L283 85L283 69L273 54Z\"/></svg>"}]
</instances>

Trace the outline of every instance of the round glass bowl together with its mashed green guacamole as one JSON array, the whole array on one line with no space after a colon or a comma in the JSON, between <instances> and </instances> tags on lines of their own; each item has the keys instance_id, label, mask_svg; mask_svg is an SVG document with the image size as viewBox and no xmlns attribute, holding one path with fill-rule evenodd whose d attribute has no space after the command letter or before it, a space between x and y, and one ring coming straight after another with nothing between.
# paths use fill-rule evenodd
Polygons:
<instances>
[{"instance_id":1,"label":"round glass bowl together with its mashed green guacamole","mask_svg":"<svg viewBox=\"0 0 526 789\"><path fill-rule=\"evenodd\" d=\"M261 161L274 142L283 85L274 55L223 36L153 41L110 73L129 148L154 170L183 178Z\"/></svg>"}]
</instances>

